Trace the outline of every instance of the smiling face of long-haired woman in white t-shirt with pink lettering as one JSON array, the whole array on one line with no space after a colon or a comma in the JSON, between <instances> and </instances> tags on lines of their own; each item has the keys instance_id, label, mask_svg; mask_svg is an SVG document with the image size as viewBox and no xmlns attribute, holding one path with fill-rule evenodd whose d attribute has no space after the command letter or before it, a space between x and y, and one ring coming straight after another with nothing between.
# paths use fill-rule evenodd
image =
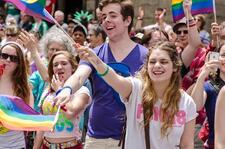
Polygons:
<instances>
[{"instance_id":1,"label":"smiling face of long-haired woman in white t-shirt with pink lettering","mask_svg":"<svg viewBox=\"0 0 225 149\"><path fill-rule=\"evenodd\" d=\"M168 83L173 73L173 63L168 53L161 49L154 49L148 61L148 74L153 83Z\"/></svg>"}]
</instances>

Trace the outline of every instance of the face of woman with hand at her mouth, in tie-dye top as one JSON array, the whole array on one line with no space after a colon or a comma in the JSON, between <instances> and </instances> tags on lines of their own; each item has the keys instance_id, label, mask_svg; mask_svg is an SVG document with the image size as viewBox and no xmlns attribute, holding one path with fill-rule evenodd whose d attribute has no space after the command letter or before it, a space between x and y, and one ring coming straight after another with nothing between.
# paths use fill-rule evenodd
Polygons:
<instances>
[{"instance_id":1,"label":"face of woman with hand at her mouth, in tie-dye top","mask_svg":"<svg viewBox=\"0 0 225 149\"><path fill-rule=\"evenodd\" d=\"M61 82L65 82L72 75L73 68L66 56L60 54L54 58L53 72L59 76Z\"/></svg>"}]
</instances>

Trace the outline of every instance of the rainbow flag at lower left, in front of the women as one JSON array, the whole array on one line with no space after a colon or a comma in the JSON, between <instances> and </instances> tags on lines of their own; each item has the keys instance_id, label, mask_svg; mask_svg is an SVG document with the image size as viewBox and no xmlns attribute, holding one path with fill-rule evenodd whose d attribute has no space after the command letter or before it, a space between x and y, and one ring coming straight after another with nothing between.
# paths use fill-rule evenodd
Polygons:
<instances>
[{"instance_id":1,"label":"rainbow flag at lower left, in front of the women","mask_svg":"<svg viewBox=\"0 0 225 149\"><path fill-rule=\"evenodd\" d=\"M52 131L59 115L40 115L21 98L0 95L0 125L9 130Z\"/></svg>"}]
</instances>

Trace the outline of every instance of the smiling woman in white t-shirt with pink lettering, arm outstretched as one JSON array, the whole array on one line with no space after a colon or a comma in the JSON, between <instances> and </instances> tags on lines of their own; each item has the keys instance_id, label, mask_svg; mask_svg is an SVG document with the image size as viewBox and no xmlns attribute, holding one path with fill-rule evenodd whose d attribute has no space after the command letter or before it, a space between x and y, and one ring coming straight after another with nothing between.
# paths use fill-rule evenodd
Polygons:
<instances>
[{"instance_id":1,"label":"smiling woman in white t-shirt with pink lettering, arm outstretched","mask_svg":"<svg viewBox=\"0 0 225 149\"><path fill-rule=\"evenodd\" d=\"M116 74L91 49L81 47L77 52L122 97L127 114L125 148L146 147L146 125L151 148L193 148L196 105L180 89L181 61L174 44L152 47L142 69L129 78Z\"/></svg>"}]
</instances>

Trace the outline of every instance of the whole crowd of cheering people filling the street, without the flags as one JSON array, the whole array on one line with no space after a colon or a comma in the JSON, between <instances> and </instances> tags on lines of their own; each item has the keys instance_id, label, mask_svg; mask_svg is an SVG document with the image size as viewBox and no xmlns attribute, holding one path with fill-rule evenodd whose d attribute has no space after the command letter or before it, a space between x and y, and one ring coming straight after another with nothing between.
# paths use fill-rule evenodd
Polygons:
<instances>
[{"instance_id":1,"label":"whole crowd of cheering people filling the street, without the flags","mask_svg":"<svg viewBox=\"0 0 225 149\"><path fill-rule=\"evenodd\" d=\"M60 28L0 14L0 95L43 115L61 107L52 132L0 122L0 149L225 148L225 22L204 28L191 6L174 25L157 8L143 26L130 0L101 0L89 22L56 10Z\"/></svg>"}]
</instances>

